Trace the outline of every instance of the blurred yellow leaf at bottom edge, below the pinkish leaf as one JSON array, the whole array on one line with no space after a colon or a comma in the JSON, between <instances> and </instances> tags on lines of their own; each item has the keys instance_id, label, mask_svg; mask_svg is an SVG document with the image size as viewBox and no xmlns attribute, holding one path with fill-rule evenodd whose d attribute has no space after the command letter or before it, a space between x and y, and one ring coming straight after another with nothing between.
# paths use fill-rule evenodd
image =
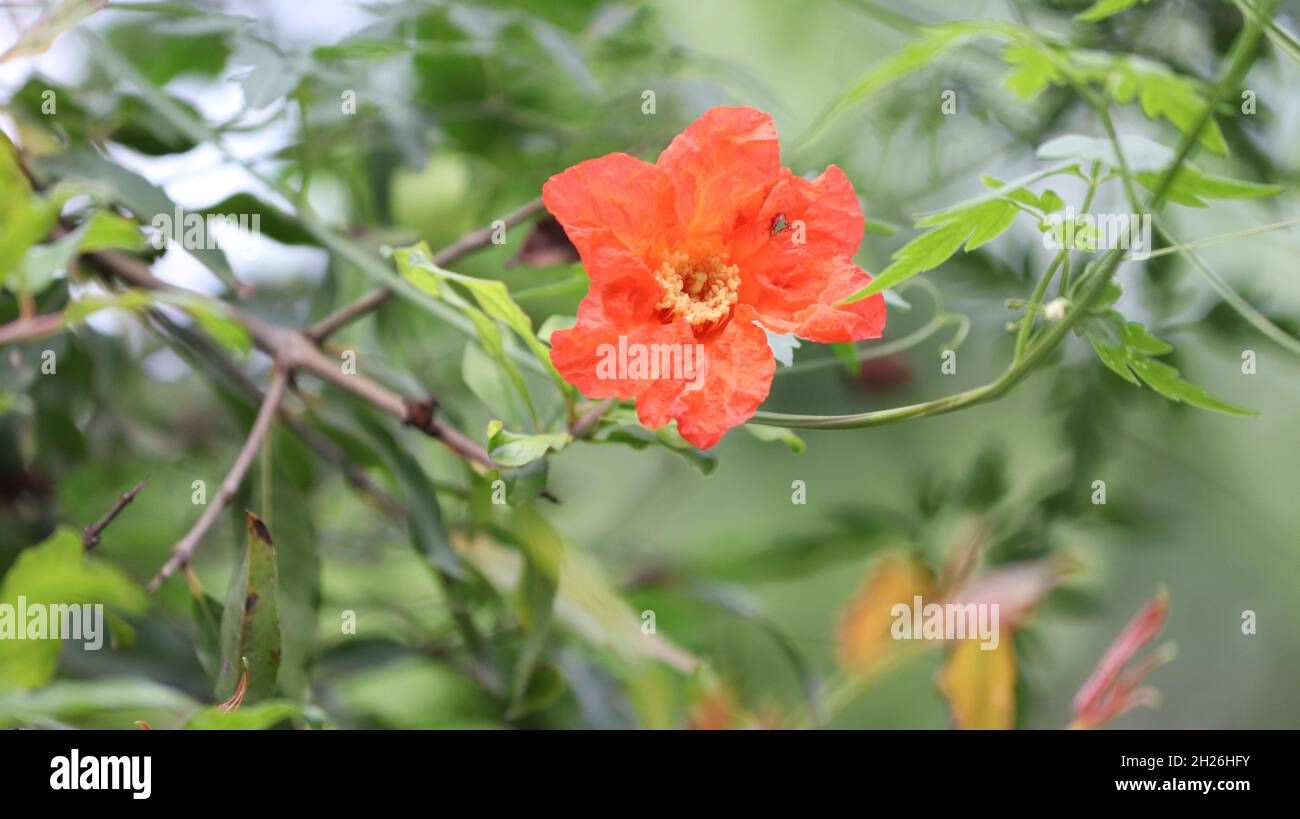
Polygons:
<instances>
[{"instance_id":1,"label":"blurred yellow leaf at bottom edge, below the pinkish leaf","mask_svg":"<svg viewBox=\"0 0 1300 819\"><path fill-rule=\"evenodd\" d=\"M1009 637L1009 636L1008 636ZM1011 641L984 650L979 640L957 644L939 676L958 728L1009 729L1015 725L1015 651Z\"/></svg>"}]
</instances>

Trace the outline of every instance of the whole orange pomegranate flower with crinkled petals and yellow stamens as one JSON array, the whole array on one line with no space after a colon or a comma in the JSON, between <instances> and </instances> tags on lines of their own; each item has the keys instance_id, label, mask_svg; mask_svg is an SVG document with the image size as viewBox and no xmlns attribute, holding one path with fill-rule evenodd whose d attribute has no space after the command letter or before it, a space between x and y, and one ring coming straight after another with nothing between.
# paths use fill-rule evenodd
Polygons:
<instances>
[{"instance_id":1,"label":"whole orange pomegranate flower with crinkled petals and yellow stamens","mask_svg":"<svg viewBox=\"0 0 1300 819\"><path fill-rule=\"evenodd\" d=\"M610 153L551 177L546 209L592 280L551 361L588 398L636 398L650 429L677 420L718 443L767 398L763 328L814 342L879 338L879 294L835 303L871 277L853 264L864 226L835 165L783 168L772 118L711 108L646 162Z\"/></svg>"}]
</instances>

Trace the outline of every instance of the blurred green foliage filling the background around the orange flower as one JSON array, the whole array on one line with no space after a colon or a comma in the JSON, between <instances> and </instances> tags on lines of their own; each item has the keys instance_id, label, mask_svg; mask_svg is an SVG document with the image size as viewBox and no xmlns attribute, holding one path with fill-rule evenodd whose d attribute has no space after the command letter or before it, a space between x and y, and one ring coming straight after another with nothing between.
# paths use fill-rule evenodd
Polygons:
<instances>
[{"instance_id":1,"label":"blurred green foliage filling the background around the orange flower","mask_svg":"<svg viewBox=\"0 0 1300 819\"><path fill-rule=\"evenodd\" d=\"M68 79L32 64L0 91L34 177L0 146L0 324L69 306L88 316L3 351L0 601L104 603L117 642L68 642L60 654L56 642L0 641L0 725L785 724L818 714L842 673L837 623L872 560L902 552L939 571L972 530L985 571L1076 563L1015 633L1018 725L1066 724L1075 689L1160 584L1180 656L1156 677L1164 706L1124 724L1300 725L1300 363L1284 341L1300 329L1294 231L1195 251L1254 313L1183 254L1154 256L1123 269L1123 286L1080 325L1087 339L1071 334L996 404L884 429L754 425L710 452L671 428L641 428L625 406L589 438L568 436L567 413L590 407L551 380L537 332L545 341L569 321L585 283L568 260L523 257L526 222L452 269L429 250L504 217L577 161L653 159L707 107L754 105L776 118L797 173L846 170L868 225L887 226L868 229L858 261L887 272L878 281L910 304L890 307L880 342L793 350L764 408L853 413L970 389L1014 355L1008 300L1023 307L1050 261L1034 222L1065 203L1078 209L1093 162L1109 174L1102 207L1128 208L1123 162L1106 153L1084 90L1105 92L1123 144L1170 152L1196 130L1239 9L1013 0L979 9L989 20L953 22L948 4L901 0L320 6L311 25L289 3L256 17L239 5L124 4L47 55L78 56L57 72ZM1249 75L1258 113L1236 116L1235 90L1219 105L1158 244L1295 213L1300 64L1284 29L1268 35ZM949 90L953 116L940 105ZM1066 156L1039 151L1071 134L1084 136ZM251 148L231 161L212 140ZM1126 153L1127 182L1150 188L1141 152ZM1062 159L1052 187L1001 182ZM151 164L160 160L169 170ZM195 194L185 174L207 185ZM296 422L347 469L277 424L194 575L146 595L204 508L195 481L212 502L257 410L247 382L268 372L221 309L133 303L75 261L105 248L168 261L177 251L160 255L121 226L172 213L182 194L192 212L261 217L273 263L204 248L205 272L190 283L202 276L231 303L254 283L242 306L274 324L306 326L376 285L321 250L304 209L465 316L468 341L396 298L326 348L351 351L380 384L437 395L439 417L502 469L481 474L304 378ZM1020 218L1026 208L1034 218ZM62 238L52 235L60 216L73 229ZM915 229L893 235L897 225ZM406 250L384 259L390 248ZM939 330L954 324L970 337L945 374L940 355L959 341ZM913 333L906 350L872 354ZM1253 374L1242 369L1247 350ZM1238 404L1258 417L1192 408ZM70 526L144 477L84 554ZM491 502L498 478L504 507ZM790 503L796 482L806 503ZM240 568L246 508L269 528L274 578ZM273 588L278 603L276 673L222 710L238 658L269 650L266 637L237 640L254 586ZM1257 634L1242 633L1245 610ZM940 663L935 653L901 664L829 724L949 725Z\"/></svg>"}]
</instances>

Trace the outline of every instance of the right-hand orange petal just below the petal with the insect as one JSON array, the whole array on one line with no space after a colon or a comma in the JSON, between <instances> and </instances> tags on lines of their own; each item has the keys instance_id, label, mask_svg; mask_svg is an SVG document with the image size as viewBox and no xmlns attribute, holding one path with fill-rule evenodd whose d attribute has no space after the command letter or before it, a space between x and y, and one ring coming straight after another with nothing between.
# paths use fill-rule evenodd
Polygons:
<instances>
[{"instance_id":1,"label":"right-hand orange petal just below the petal with the insect","mask_svg":"<svg viewBox=\"0 0 1300 819\"><path fill-rule=\"evenodd\" d=\"M775 278L746 277L741 302L776 333L794 333L812 342L854 342L880 338L885 330L885 298L876 294L844 307L840 299L867 286L871 277L848 256L810 259Z\"/></svg>"}]
</instances>

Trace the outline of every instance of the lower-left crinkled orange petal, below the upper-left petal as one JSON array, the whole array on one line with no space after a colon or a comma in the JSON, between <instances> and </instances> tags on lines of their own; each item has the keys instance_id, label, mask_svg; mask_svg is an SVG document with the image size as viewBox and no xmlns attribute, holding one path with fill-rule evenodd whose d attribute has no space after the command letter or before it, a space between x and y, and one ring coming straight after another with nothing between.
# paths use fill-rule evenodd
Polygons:
<instances>
[{"instance_id":1,"label":"lower-left crinkled orange petal, below the upper-left petal","mask_svg":"<svg viewBox=\"0 0 1300 819\"><path fill-rule=\"evenodd\" d=\"M659 321L654 299L658 294L630 280L593 286L577 308L577 324L551 334L551 363L566 381L588 398L636 398L654 384L647 378L610 378L606 360L611 344L619 350L619 338L627 344L692 344L690 326L684 321Z\"/></svg>"}]
</instances>

